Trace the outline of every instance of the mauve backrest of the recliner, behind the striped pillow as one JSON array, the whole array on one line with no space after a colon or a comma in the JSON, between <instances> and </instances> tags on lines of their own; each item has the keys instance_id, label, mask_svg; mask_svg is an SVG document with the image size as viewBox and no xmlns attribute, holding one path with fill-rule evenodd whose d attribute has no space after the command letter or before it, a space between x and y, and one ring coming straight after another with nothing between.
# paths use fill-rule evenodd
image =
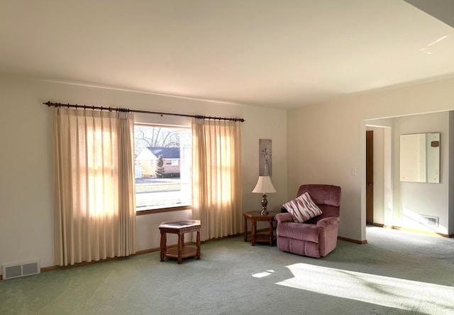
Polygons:
<instances>
[{"instance_id":1,"label":"mauve backrest of the recliner, behind the striped pillow","mask_svg":"<svg viewBox=\"0 0 454 315\"><path fill-rule=\"evenodd\" d=\"M305 184L299 187L297 197L305 192L309 193L311 199L323 212L320 216L309 220L308 223L315 223L328 216L341 215L341 187L326 184Z\"/></svg>"}]
</instances>

